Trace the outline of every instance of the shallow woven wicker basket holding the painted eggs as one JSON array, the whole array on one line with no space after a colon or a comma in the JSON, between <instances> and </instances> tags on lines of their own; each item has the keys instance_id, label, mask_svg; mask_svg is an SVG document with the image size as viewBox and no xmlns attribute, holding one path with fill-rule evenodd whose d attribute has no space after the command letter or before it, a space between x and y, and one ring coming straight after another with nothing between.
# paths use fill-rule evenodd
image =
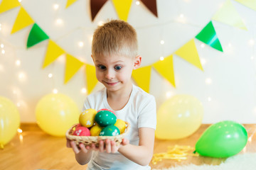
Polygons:
<instances>
[{"instance_id":1,"label":"shallow woven wicker basket holding the painted eggs","mask_svg":"<svg viewBox=\"0 0 256 170\"><path fill-rule=\"evenodd\" d=\"M122 142L122 139L124 139L124 136L127 135L127 133L129 132L130 125L127 122L125 122L125 124L126 124L126 129L124 130L124 132L122 134L116 135L116 136L76 136L76 135L73 135L73 132L75 131L75 128L78 125L78 123L77 123L77 124L73 125L69 130L67 130L65 136L69 140L75 141L76 145L79 145L80 143L83 143L85 146L95 144L96 147L99 147L100 140L105 141L105 140L109 139L109 140L113 140L114 142L116 142L116 144L118 146Z\"/></svg>"}]
</instances>

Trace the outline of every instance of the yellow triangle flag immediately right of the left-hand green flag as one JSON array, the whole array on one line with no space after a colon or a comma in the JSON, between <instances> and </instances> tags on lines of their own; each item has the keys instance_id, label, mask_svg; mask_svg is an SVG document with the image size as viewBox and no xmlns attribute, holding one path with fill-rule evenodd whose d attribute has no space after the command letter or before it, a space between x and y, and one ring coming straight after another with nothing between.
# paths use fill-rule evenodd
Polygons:
<instances>
[{"instance_id":1,"label":"yellow triangle flag immediately right of the left-hand green flag","mask_svg":"<svg viewBox=\"0 0 256 170\"><path fill-rule=\"evenodd\" d=\"M54 62L60 55L63 55L65 51L59 47L53 40L49 40L46 57L43 62L43 69L46 68L49 64Z\"/></svg>"}]
</instances>

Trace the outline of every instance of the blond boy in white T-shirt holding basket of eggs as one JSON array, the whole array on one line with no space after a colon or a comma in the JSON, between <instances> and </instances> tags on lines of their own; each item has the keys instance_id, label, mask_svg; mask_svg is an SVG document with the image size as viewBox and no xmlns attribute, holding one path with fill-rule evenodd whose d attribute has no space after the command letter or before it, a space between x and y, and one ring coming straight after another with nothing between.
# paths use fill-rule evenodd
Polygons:
<instances>
[{"instance_id":1,"label":"blond boy in white T-shirt holding basket of eggs","mask_svg":"<svg viewBox=\"0 0 256 170\"><path fill-rule=\"evenodd\" d=\"M96 77L105 88L87 96L84 109L114 110L117 119L127 121L131 128L122 144L100 141L100 146L87 146L67 141L79 164L87 169L151 169L154 151L156 101L154 96L132 84L132 70L139 68L137 33L128 23L112 20L95 30L92 60Z\"/></svg>"}]
</instances>

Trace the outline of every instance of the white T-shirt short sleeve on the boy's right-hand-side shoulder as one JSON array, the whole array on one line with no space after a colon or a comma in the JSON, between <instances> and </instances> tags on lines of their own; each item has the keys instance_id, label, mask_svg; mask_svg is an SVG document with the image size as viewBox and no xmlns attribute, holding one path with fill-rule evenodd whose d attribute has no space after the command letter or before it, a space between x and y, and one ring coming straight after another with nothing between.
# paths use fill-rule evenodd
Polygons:
<instances>
[{"instance_id":1,"label":"white T-shirt short sleeve on the boy's right-hand-side shoulder","mask_svg":"<svg viewBox=\"0 0 256 170\"><path fill-rule=\"evenodd\" d=\"M139 108L138 128L153 128L156 130L156 100L154 96L144 98Z\"/></svg>"}]
</instances>

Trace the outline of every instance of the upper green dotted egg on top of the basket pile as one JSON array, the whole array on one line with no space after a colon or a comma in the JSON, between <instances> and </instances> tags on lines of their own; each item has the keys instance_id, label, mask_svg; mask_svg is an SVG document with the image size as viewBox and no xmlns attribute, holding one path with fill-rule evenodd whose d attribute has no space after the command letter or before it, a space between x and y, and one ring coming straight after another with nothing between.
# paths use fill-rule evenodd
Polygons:
<instances>
[{"instance_id":1,"label":"upper green dotted egg on top of the basket pile","mask_svg":"<svg viewBox=\"0 0 256 170\"><path fill-rule=\"evenodd\" d=\"M110 111L99 111L95 115L95 121L100 126L114 125L117 121L117 116Z\"/></svg>"}]
</instances>

